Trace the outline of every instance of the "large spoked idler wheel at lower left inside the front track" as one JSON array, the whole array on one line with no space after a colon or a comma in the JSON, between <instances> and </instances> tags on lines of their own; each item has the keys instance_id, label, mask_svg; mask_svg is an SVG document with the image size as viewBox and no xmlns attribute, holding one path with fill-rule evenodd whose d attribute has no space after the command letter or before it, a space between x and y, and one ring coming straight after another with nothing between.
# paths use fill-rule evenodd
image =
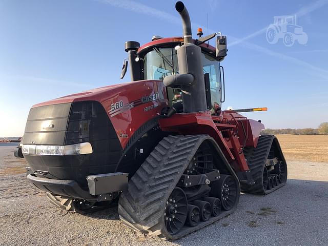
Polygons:
<instances>
[{"instance_id":1,"label":"large spoked idler wheel at lower left inside the front track","mask_svg":"<svg viewBox=\"0 0 328 246\"><path fill-rule=\"evenodd\" d=\"M176 234L186 222L188 203L186 193L179 187L175 187L166 202L165 226L169 233Z\"/></svg>"}]
</instances>

